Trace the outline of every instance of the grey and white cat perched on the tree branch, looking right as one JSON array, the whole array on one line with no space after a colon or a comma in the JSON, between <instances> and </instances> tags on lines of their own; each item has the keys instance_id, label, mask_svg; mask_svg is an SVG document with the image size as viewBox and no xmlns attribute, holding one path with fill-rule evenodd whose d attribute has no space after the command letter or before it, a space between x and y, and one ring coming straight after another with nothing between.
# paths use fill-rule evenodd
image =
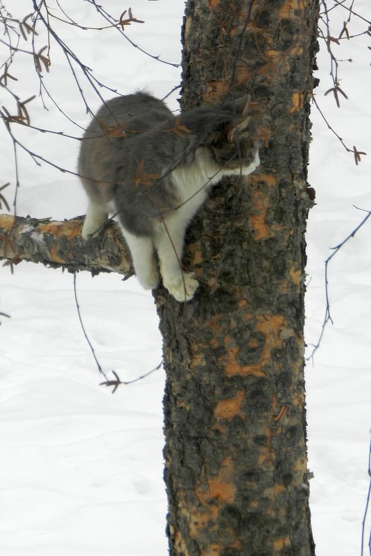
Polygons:
<instances>
[{"instance_id":1,"label":"grey and white cat perched on the tree branch, looking right","mask_svg":"<svg viewBox=\"0 0 371 556\"><path fill-rule=\"evenodd\" d=\"M174 115L147 92L107 101L81 141L78 174L89 199L82 236L117 215L139 283L180 302L198 288L182 269L184 234L213 185L259 166L246 95ZM155 258L159 261L159 270Z\"/></svg>"}]
</instances>

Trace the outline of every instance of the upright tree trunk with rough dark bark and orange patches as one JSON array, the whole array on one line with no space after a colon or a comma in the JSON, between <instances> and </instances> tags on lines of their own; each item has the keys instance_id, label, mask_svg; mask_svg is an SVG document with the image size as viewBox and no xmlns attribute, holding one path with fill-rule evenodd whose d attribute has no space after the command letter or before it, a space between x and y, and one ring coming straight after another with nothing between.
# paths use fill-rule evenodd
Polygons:
<instances>
[{"instance_id":1,"label":"upright tree trunk with rough dark bark and orange patches","mask_svg":"<svg viewBox=\"0 0 371 556\"><path fill-rule=\"evenodd\" d=\"M200 288L159 289L171 555L311 556L304 231L318 1L188 0L184 108L249 92L261 167L189 230Z\"/></svg>"}]
</instances>

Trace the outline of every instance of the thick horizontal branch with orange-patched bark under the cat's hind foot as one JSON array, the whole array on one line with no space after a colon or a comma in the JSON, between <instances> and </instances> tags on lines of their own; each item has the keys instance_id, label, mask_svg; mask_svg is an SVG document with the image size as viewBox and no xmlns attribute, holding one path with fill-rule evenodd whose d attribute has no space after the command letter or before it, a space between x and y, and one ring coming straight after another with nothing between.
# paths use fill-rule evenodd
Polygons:
<instances>
[{"instance_id":1,"label":"thick horizontal branch with orange-patched bark under the cat's hind foot","mask_svg":"<svg viewBox=\"0 0 371 556\"><path fill-rule=\"evenodd\" d=\"M81 237L83 217L71 220L37 220L0 214L0 259L8 264L22 260L41 262L69 272L87 270L117 272L127 278L134 273L128 248L118 226L111 222L98 237Z\"/></svg>"}]
</instances>

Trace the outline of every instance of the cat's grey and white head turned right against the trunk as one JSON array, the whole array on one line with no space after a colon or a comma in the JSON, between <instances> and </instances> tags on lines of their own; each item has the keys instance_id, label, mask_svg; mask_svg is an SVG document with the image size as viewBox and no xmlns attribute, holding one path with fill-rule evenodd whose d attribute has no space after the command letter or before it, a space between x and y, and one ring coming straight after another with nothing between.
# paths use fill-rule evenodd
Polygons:
<instances>
[{"instance_id":1,"label":"cat's grey and white head turned right against the trunk","mask_svg":"<svg viewBox=\"0 0 371 556\"><path fill-rule=\"evenodd\" d=\"M221 169L243 171L259 165L255 128L248 115L249 101L250 96L246 95L232 103L190 111L193 112L189 118L191 133L198 135L198 146L207 147Z\"/></svg>"}]
</instances>

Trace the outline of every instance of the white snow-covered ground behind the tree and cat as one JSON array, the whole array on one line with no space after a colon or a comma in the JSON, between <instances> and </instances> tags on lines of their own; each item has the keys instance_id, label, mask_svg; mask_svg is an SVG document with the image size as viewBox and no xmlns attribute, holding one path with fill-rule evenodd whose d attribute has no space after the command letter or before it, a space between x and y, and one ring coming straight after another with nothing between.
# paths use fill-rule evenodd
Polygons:
<instances>
[{"instance_id":1,"label":"white snow-covered ground behind the tree and cat","mask_svg":"<svg viewBox=\"0 0 371 556\"><path fill-rule=\"evenodd\" d=\"M53 2L55 13L60 11ZM132 8L145 24L126 34L135 44L163 60L180 61L180 0L105 1L119 17ZM331 4L331 2L329 2ZM88 1L65 0L62 6L85 26L101 25ZM354 8L371 19L368 0ZM14 17L32 11L31 0L10 2ZM337 36L347 10L331 12ZM53 23L94 75L119 92L148 87L159 97L180 83L180 69L163 64L132 47L119 33L79 31ZM350 34L368 24L353 16ZM35 38L37 49L46 35ZM21 42L29 49L30 40ZM329 62L323 44L318 62L316 98L345 144L367 151L354 164L312 110L309 181L316 188L316 207L308 224L307 344L316 344L325 315L324 260L371 210L370 194L370 37L333 44L340 63L340 110L331 94ZM0 44L1 60L6 49ZM29 56L19 56L10 85L21 97L37 94L39 83ZM58 106L80 125L89 117L60 49L51 44L50 73L43 82ZM99 101L81 82L89 105ZM100 89L105 98L113 93ZM169 106L178 108L178 92ZM80 136L44 92L28 104L31 124ZM0 88L0 104L15 112L15 103ZM19 140L54 163L76 169L78 142L12 126ZM12 144L0 128L1 183L9 201L15 192ZM85 195L78 179L43 163L35 165L18 149L17 214L64 219L85 214ZM371 367L371 219L329 265L329 298L334 325L325 330L320 348L307 364L307 406L311 512L317 556L361 554L361 523L368 491ZM151 296L135 278L117 275L77 276L78 300L89 338L106 373L121 380L141 376L161 360L161 339ZM59 270L21 263L14 275L0 269L0 554L2 556L163 556L166 497L162 482L162 393L164 373L111 390L101 376L83 337L74 302L73 278ZM310 353L310 350L309 350ZM366 525L368 537L370 519ZM368 549L365 548L365 553Z\"/></svg>"}]
</instances>

